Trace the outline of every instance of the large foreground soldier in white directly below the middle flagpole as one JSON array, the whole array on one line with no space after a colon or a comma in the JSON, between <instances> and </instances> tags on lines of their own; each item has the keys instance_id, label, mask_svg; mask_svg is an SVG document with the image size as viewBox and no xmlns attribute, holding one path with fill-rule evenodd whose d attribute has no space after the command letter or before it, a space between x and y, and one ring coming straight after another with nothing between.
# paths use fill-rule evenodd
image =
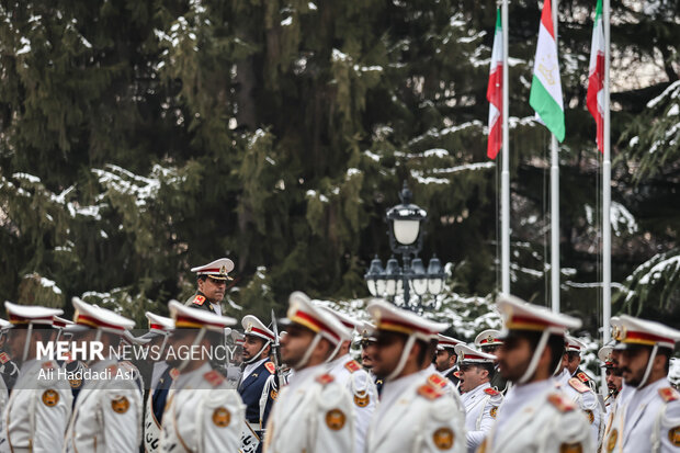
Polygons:
<instances>
[{"instance_id":1,"label":"large foreground soldier in white directly below the middle flagpole","mask_svg":"<svg viewBox=\"0 0 680 453\"><path fill-rule=\"evenodd\" d=\"M566 330L579 328L581 321L511 295L499 295L496 306L505 320L500 372L514 385L479 451L594 452L597 440L588 420L552 380L562 361Z\"/></svg>"}]
</instances>

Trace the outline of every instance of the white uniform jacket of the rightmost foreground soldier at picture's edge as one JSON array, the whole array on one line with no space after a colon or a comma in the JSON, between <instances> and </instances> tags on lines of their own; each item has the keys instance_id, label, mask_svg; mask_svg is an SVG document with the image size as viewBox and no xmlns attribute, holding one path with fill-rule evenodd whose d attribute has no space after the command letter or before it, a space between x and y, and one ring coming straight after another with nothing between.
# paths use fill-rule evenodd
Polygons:
<instances>
[{"instance_id":1,"label":"white uniform jacket of the rightmost foreground soldier at picture's edge","mask_svg":"<svg viewBox=\"0 0 680 453\"><path fill-rule=\"evenodd\" d=\"M603 452L680 452L680 394L667 378L634 389L619 407Z\"/></svg>"}]
</instances>

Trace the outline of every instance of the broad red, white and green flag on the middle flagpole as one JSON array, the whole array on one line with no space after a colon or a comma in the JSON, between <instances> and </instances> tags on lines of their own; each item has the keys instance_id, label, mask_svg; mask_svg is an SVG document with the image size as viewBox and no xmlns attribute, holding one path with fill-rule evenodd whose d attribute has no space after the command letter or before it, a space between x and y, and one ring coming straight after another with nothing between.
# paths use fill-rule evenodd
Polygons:
<instances>
[{"instance_id":1,"label":"broad red, white and green flag on the middle flagpole","mask_svg":"<svg viewBox=\"0 0 680 453\"><path fill-rule=\"evenodd\" d=\"M564 140L565 110L562 104L557 41L553 27L551 0L545 0L543 3L529 104L536 111L543 124L555 135L557 140Z\"/></svg>"}]
</instances>

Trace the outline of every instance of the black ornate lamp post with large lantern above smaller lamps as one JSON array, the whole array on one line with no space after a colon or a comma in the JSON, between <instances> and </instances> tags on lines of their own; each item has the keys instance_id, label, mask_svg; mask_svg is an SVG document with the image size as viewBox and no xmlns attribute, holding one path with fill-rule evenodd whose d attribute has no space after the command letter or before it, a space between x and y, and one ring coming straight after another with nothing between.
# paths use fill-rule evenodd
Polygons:
<instances>
[{"instance_id":1,"label":"black ornate lamp post with large lantern above smaller lamps","mask_svg":"<svg viewBox=\"0 0 680 453\"><path fill-rule=\"evenodd\" d=\"M404 306L409 309L420 309L422 308L420 299L423 295L429 293L437 296L441 293L445 273L437 257L432 257L427 270L422 260L418 258L424 236L421 233L421 225L428 217L428 213L411 203L412 196L405 181L399 193L401 204L390 207L385 215L389 225L387 228L389 248L393 253L401 256L404 265L400 267L393 254L383 268L379 258L375 256L364 279L372 296L388 296L395 301L395 296L403 291ZM411 285L419 301L415 306L410 303Z\"/></svg>"}]
</instances>

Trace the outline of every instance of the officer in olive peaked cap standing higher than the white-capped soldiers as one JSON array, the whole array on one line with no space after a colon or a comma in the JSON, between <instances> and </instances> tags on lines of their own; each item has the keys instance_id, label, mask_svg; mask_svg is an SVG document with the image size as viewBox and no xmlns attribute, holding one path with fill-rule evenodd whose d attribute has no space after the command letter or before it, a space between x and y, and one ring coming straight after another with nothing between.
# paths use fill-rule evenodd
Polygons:
<instances>
[{"instance_id":1,"label":"officer in olive peaked cap standing higher than the white-capped soldiers","mask_svg":"<svg viewBox=\"0 0 680 453\"><path fill-rule=\"evenodd\" d=\"M231 280L229 272L233 270L234 261L228 258L220 258L205 265L192 268L191 272L197 275L199 288L185 305L222 316L220 304L227 291L227 281Z\"/></svg>"}]
</instances>

